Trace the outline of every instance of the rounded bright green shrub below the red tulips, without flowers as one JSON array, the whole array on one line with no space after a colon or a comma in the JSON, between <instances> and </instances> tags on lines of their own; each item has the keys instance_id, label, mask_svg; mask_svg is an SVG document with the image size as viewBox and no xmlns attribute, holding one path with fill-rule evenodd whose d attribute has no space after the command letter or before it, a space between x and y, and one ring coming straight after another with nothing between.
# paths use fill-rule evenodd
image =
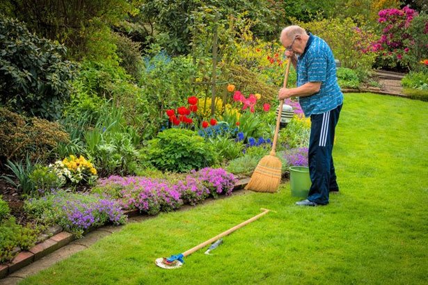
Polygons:
<instances>
[{"instance_id":1,"label":"rounded bright green shrub below the red tulips, without flowers","mask_svg":"<svg viewBox=\"0 0 428 285\"><path fill-rule=\"evenodd\" d=\"M166 129L148 145L148 161L159 170L187 172L216 162L214 147L195 131Z\"/></svg>"}]
</instances>

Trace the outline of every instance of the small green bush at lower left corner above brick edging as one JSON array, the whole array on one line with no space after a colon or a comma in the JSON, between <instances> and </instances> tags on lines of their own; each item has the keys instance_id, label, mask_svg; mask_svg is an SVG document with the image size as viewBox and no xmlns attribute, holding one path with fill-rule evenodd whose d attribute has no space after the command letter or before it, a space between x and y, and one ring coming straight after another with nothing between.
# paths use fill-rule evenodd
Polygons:
<instances>
[{"instance_id":1,"label":"small green bush at lower left corner above brick edging","mask_svg":"<svg viewBox=\"0 0 428 285\"><path fill-rule=\"evenodd\" d=\"M17 225L14 217L0 220L0 263L11 261L16 247L29 250L37 240L38 231Z\"/></svg>"}]
</instances>

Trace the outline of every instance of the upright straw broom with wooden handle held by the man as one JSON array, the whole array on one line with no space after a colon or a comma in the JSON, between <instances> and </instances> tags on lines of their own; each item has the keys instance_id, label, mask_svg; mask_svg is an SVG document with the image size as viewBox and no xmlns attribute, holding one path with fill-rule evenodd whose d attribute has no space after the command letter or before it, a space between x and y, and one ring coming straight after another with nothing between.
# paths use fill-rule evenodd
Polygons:
<instances>
[{"instance_id":1,"label":"upright straw broom with wooden handle held by the man","mask_svg":"<svg viewBox=\"0 0 428 285\"><path fill-rule=\"evenodd\" d=\"M288 72L290 72L291 61L292 60L289 58L287 62L287 68L285 69L284 88L287 87ZM280 159L275 156L275 149L276 140L278 140L281 113L283 113L283 104L284 100L280 100L271 153L267 156L264 156L264 158L260 160L259 164L257 164L257 168L255 168L250 182L248 182L247 186L245 186L245 189L247 190L253 190L256 192L276 192L276 190L278 190L281 181L282 163Z\"/></svg>"}]
</instances>

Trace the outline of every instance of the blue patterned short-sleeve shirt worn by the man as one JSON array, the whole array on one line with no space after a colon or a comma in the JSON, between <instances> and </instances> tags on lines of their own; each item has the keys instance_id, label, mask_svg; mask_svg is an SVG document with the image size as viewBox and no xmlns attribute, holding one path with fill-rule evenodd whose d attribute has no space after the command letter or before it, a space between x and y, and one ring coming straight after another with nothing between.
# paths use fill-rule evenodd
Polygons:
<instances>
[{"instance_id":1,"label":"blue patterned short-sleeve shirt worn by the man","mask_svg":"<svg viewBox=\"0 0 428 285\"><path fill-rule=\"evenodd\" d=\"M308 82L321 82L319 92L299 97L306 117L331 111L343 103L343 94L336 77L336 65L328 44L309 34L305 51L297 60L297 86Z\"/></svg>"}]
</instances>

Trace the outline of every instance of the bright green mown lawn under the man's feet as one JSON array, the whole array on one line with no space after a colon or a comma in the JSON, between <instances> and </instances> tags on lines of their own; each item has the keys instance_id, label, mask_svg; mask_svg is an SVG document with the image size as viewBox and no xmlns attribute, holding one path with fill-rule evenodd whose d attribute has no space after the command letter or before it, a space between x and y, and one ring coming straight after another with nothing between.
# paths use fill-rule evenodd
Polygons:
<instances>
[{"instance_id":1,"label":"bright green mown lawn under the man's feet","mask_svg":"<svg viewBox=\"0 0 428 285\"><path fill-rule=\"evenodd\" d=\"M427 284L428 103L346 94L334 149L341 193L301 208L290 184L127 225L24 284ZM184 252L260 213L164 270Z\"/></svg>"}]
</instances>

